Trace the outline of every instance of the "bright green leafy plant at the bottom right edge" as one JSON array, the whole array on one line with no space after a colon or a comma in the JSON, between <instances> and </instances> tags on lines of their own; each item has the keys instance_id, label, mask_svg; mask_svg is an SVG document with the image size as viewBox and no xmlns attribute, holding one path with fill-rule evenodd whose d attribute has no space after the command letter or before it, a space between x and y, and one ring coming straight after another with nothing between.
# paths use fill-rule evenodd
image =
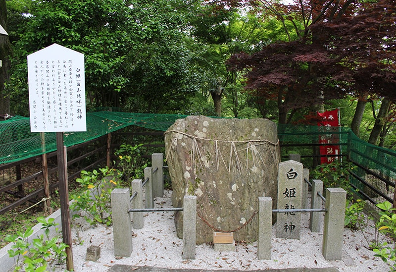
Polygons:
<instances>
[{"instance_id":1,"label":"bright green leafy plant at the bottom right edge","mask_svg":"<svg viewBox=\"0 0 396 272\"><path fill-rule=\"evenodd\" d=\"M392 245L388 245L384 243L383 248L381 249L373 249L376 253L374 256L380 257L382 261L385 263L389 263L392 271L396 270L396 214L393 212L396 209L392 208L392 204L388 201L383 203L379 203L376 205L381 209L379 213L381 218L377 223L377 227L379 231L385 235L387 235L392 240Z\"/></svg>"}]
</instances>

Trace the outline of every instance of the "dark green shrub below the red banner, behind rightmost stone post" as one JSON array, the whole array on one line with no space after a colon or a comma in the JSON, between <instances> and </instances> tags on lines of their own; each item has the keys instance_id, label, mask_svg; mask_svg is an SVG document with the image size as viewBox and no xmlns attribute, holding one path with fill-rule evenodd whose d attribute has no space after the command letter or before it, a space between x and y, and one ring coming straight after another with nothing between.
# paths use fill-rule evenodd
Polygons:
<instances>
[{"instance_id":1,"label":"dark green shrub below the red banner, behind rightmost stone post","mask_svg":"<svg viewBox=\"0 0 396 272\"><path fill-rule=\"evenodd\" d=\"M355 165L351 162L335 160L332 163L323 163L316 166L312 174L316 179L323 181L326 188L343 188L349 196L353 192L349 184L349 171L354 169Z\"/></svg>"}]
</instances>

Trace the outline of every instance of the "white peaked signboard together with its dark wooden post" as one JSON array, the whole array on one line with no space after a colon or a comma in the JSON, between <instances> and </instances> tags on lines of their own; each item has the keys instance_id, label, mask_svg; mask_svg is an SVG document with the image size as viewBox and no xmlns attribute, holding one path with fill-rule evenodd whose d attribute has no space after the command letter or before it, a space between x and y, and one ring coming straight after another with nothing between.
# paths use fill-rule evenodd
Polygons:
<instances>
[{"instance_id":1,"label":"white peaked signboard together with its dark wooden post","mask_svg":"<svg viewBox=\"0 0 396 272\"><path fill-rule=\"evenodd\" d=\"M84 54L53 44L28 55L31 132L56 132L66 268L74 271L64 131L87 131ZM43 147L43 149L45 149Z\"/></svg>"}]
</instances>

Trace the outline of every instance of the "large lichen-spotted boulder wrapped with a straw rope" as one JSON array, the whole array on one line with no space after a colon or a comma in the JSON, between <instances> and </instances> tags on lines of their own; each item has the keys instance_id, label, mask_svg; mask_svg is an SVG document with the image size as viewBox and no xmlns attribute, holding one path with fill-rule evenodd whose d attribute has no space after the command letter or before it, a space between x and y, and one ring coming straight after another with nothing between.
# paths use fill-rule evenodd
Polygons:
<instances>
[{"instance_id":1,"label":"large lichen-spotted boulder wrapped with a straw rope","mask_svg":"<svg viewBox=\"0 0 396 272\"><path fill-rule=\"evenodd\" d=\"M267 119L188 116L165 132L172 204L197 196L197 244L213 231L233 231L236 241L257 240L258 197L277 203L280 162L277 126ZM182 212L175 215L183 237Z\"/></svg>"}]
</instances>

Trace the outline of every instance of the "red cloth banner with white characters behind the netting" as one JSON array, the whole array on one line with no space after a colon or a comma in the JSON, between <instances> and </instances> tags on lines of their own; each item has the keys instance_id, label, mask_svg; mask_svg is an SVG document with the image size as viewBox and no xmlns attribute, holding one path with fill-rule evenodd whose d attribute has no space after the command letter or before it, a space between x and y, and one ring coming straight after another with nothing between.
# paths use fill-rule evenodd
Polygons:
<instances>
[{"instance_id":1,"label":"red cloth banner with white characters behind the netting","mask_svg":"<svg viewBox=\"0 0 396 272\"><path fill-rule=\"evenodd\" d=\"M321 144L336 144L340 142L340 134L334 134L333 132L338 132L338 109L325 111L325 112L317 112L319 117L318 126L319 131L323 132L323 134L319 135L319 143ZM324 157L320 158L321 163L331 163L334 160L338 159L337 156L340 154L340 146L335 145L323 145L320 146L320 155L324 155ZM327 157L329 155L333 155L331 157Z\"/></svg>"}]
</instances>

